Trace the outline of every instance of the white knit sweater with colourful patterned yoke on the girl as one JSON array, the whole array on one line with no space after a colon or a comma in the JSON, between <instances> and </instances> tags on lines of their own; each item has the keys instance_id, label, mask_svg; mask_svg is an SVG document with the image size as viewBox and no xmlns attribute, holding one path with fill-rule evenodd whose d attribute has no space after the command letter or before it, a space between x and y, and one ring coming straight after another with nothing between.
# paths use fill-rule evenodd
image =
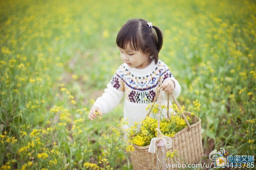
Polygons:
<instances>
[{"instance_id":1,"label":"white knit sweater with colourful patterned yoke on the girl","mask_svg":"<svg viewBox=\"0 0 256 170\"><path fill-rule=\"evenodd\" d=\"M108 113L118 106L125 94L124 119L128 118L130 125L134 122L140 123L148 113L146 107L153 102L157 88L167 79L174 81L173 94L177 98L180 94L180 85L168 66L161 60L158 60L157 64L153 60L144 69L130 68L124 63L116 70L103 95L95 101L94 106L98 106L102 113ZM161 105L167 106L167 94L164 91Z\"/></svg>"}]
</instances>

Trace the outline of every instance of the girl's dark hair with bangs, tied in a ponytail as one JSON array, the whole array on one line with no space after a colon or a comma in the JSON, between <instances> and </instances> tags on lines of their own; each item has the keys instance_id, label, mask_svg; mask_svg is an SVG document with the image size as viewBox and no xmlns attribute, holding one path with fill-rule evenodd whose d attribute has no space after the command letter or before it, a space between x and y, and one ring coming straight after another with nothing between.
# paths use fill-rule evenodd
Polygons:
<instances>
[{"instance_id":1,"label":"girl's dark hair with bangs, tied in a ponytail","mask_svg":"<svg viewBox=\"0 0 256 170\"><path fill-rule=\"evenodd\" d=\"M143 19L132 19L118 32L116 45L123 49L130 45L132 50L150 54L149 56L152 56L157 64L158 53L163 45L162 31L156 26L149 27L147 21Z\"/></svg>"}]
</instances>

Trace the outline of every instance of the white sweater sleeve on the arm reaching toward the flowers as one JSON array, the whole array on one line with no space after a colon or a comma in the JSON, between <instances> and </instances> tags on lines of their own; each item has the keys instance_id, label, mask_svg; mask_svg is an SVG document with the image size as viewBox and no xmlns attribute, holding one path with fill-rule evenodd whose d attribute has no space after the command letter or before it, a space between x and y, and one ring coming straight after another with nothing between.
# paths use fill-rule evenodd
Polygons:
<instances>
[{"instance_id":1,"label":"white sweater sleeve on the arm reaching toward the flowers","mask_svg":"<svg viewBox=\"0 0 256 170\"><path fill-rule=\"evenodd\" d=\"M102 113L109 113L118 106L123 98L123 94L124 82L116 73L110 83L107 84L107 88L104 89L102 96L95 101L94 106L99 107Z\"/></svg>"}]
</instances>

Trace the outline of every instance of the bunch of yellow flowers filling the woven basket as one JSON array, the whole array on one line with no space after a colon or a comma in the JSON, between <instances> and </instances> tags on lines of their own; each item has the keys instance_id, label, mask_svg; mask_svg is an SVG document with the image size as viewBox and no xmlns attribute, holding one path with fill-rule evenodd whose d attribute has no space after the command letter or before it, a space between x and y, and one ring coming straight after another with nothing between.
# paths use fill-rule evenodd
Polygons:
<instances>
[{"instance_id":1,"label":"bunch of yellow flowers filling the woven basket","mask_svg":"<svg viewBox=\"0 0 256 170\"><path fill-rule=\"evenodd\" d=\"M193 102L194 103L194 102ZM196 100L197 108L199 109L198 105L200 102ZM158 115L158 104L152 103L148 105L147 110L149 110L153 105L152 113L153 116L147 116L144 120L141 120L140 123L135 122L133 126L126 129L127 132L127 143L126 150L133 151L133 146L129 144L135 144L141 147L147 146L150 144L151 139L157 136L157 115ZM195 106L195 103L194 103ZM169 109L165 105L161 105L163 109ZM181 107L181 110L178 109L176 104L170 106L172 108L172 112L170 113L169 118L165 118L163 114L161 114L161 121L160 121L160 131L163 135L167 137L174 137L175 133L179 132L180 130L187 127L185 120L182 118L181 114L185 112L185 106ZM199 110L197 110L199 111ZM191 117L186 116L189 124L193 124L191 119L195 113L191 113ZM124 119L121 120L121 124L128 124ZM140 128L138 128L140 127Z\"/></svg>"}]
</instances>

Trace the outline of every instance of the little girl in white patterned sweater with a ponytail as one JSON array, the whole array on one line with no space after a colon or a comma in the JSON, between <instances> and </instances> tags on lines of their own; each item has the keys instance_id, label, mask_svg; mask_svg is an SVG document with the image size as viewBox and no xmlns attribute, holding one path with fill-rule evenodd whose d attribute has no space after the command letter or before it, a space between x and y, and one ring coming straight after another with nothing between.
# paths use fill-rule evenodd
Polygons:
<instances>
[{"instance_id":1,"label":"little girl in white patterned sweater with a ponytail","mask_svg":"<svg viewBox=\"0 0 256 170\"><path fill-rule=\"evenodd\" d=\"M146 107L153 102L161 84L164 88L162 105L167 105L167 93L178 97L180 85L168 66L158 59L163 35L151 22L143 19L127 21L117 35L116 44L124 63L116 70L103 95L95 101L88 117L92 120L97 117L95 112L100 116L110 112L125 94L124 119L128 118L131 126L145 119Z\"/></svg>"}]
</instances>

